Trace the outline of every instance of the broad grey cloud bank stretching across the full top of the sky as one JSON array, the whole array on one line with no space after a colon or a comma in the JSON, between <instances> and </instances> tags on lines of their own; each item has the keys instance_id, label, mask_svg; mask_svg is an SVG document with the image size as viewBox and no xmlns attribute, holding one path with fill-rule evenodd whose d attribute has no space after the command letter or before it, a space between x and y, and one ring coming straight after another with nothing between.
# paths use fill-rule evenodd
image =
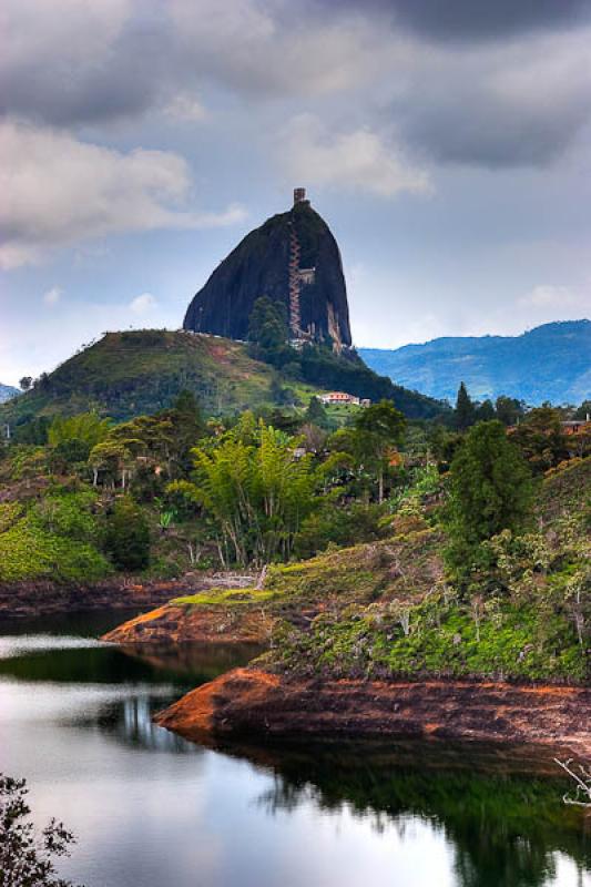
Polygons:
<instances>
[{"instance_id":1,"label":"broad grey cloud bank stretching across the full top of the sky","mask_svg":"<svg viewBox=\"0 0 591 887\"><path fill-rule=\"evenodd\" d=\"M297 105L287 114L306 100L339 131L389 118L407 153L487 167L548 164L590 122L591 0L361 6L6 0L0 112L63 128L201 122L204 92L222 89Z\"/></svg>"}]
</instances>

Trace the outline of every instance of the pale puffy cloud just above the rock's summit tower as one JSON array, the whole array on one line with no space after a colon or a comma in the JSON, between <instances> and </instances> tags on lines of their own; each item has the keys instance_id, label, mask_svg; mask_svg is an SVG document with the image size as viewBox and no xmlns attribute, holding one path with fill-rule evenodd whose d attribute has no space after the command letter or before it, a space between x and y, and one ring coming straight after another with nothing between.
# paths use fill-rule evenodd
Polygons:
<instances>
[{"instance_id":1,"label":"pale puffy cloud just above the rock's summit tower","mask_svg":"<svg viewBox=\"0 0 591 887\"><path fill-rule=\"evenodd\" d=\"M429 177L408 164L399 149L369 129L333 132L310 114L295 118L282 134L279 151L296 180L366 191L380 197L428 193Z\"/></svg>"}]
</instances>

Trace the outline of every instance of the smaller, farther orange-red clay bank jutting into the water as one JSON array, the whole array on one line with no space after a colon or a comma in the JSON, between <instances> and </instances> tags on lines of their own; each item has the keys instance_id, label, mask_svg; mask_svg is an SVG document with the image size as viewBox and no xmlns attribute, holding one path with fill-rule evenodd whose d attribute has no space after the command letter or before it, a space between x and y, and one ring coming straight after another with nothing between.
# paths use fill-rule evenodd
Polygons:
<instances>
[{"instance_id":1,"label":"smaller, farther orange-red clay bank jutting into the water","mask_svg":"<svg viewBox=\"0 0 591 887\"><path fill-rule=\"evenodd\" d=\"M137 643L256 643L268 640L269 619L247 606L160 606L105 634L102 640L116 644Z\"/></svg>"}]
</instances>

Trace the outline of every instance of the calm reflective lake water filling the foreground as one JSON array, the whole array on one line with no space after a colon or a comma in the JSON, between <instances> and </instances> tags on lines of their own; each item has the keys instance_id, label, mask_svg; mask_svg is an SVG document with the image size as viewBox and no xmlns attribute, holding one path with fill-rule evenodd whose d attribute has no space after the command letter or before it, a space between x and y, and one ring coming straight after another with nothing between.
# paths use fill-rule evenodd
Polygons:
<instances>
[{"instance_id":1,"label":"calm reflective lake water filling the foreground","mask_svg":"<svg viewBox=\"0 0 591 887\"><path fill-rule=\"evenodd\" d=\"M77 883L591 886L591 820L527 756L185 743L152 712L252 651L94 640L123 618L0 625L0 769L27 777L38 822L75 832L63 874Z\"/></svg>"}]
</instances>

